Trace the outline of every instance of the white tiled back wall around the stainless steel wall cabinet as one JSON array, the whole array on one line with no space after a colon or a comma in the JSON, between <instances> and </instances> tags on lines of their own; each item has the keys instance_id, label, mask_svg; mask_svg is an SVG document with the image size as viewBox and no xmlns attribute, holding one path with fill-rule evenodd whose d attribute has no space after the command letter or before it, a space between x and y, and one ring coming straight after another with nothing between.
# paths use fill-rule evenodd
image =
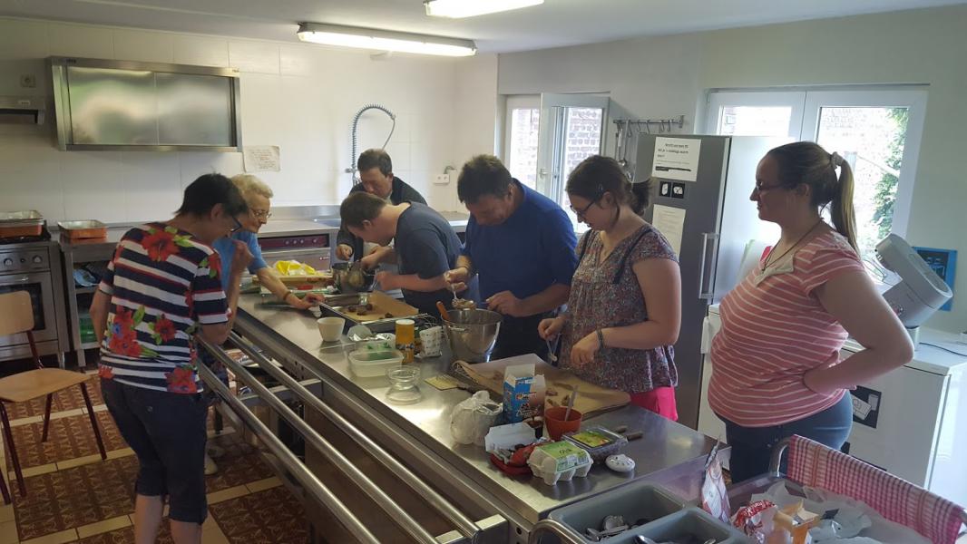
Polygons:
<instances>
[{"instance_id":1,"label":"white tiled back wall around the stainless steel wall cabinet","mask_svg":"<svg viewBox=\"0 0 967 544\"><path fill-rule=\"evenodd\" d=\"M243 143L281 148L281 171L258 173L276 206L341 201L351 184L343 172L352 164L350 122L366 103L396 114L387 145L396 175L440 210L457 209L455 186L433 186L432 175L493 151L493 118L481 112L496 100L495 56L373 60L303 43L0 18L0 95L49 95L48 55L240 69ZM19 87L22 73L37 75L35 89ZM0 210L37 209L51 222L163 218L198 175L242 171L241 154L61 152L49 113L41 127L0 125ZM390 122L370 110L359 127L362 152L383 145Z\"/></svg>"}]
</instances>

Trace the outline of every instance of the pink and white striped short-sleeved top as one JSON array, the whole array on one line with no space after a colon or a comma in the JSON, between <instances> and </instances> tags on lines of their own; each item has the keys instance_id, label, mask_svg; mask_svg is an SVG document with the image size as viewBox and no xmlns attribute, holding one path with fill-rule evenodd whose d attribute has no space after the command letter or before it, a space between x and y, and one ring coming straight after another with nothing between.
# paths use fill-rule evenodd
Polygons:
<instances>
[{"instance_id":1,"label":"pink and white striped short-sleeved top","mask_svg":"<svg viewBox=\"0 0 967 544\"><path fill-rule=\"evenodd\" d=\"M721 301L712 342L709 403L745 427L797 421L832 407L844 389L819 394L806 371L835 364L846 330L813 293L844 272L863 272L856 251L835 231L821 234L765 272L757 267Z\"/></svg>"}]
</instances>

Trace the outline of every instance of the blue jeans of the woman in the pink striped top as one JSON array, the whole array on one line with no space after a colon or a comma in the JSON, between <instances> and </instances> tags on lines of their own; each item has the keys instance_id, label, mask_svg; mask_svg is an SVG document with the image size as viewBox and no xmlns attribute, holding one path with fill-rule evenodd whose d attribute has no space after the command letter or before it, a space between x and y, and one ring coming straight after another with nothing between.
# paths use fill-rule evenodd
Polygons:
<instances>
[{"instance_id":1,"label":"blue jeans of the woman in the pink striped top","mask_svg":"<svg viewBox=\"0 0 967 544\"><path fill-rule=\"evenodd\" d=\"M729 472L732 481L738 483L768 472L773 447L793 435L841 449L853 428L853 402L847 392L842 400L819 414L772 427L743 427L721 415L718 418L725 422L725 437L732 447ZM783 459L779 470L785 472L785 466Z\"/></svg>"}]
</instances>

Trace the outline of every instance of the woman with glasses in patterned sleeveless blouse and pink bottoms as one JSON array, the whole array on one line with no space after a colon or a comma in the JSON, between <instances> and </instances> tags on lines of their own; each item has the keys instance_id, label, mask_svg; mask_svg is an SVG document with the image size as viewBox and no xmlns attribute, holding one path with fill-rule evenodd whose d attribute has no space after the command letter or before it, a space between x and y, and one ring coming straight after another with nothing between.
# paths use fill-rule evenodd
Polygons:
<instances>
[{"instance_id":1,"label":"woman with glasses in patterned sleeveless blouse and pink bottoms","mask_svg":"<svg viewBox=\"0 0 967 544\"><path fill-rule=\"evenodd\" d=\"M678 257L641 215L650 182L632 185L610 157L584 159L566 190L591 230L577 243L568 313L543 320L561 334L561 366L593 384L628 391L631 403L678 419L672 345L682 321Z\"/></svg>"}]
</instances>

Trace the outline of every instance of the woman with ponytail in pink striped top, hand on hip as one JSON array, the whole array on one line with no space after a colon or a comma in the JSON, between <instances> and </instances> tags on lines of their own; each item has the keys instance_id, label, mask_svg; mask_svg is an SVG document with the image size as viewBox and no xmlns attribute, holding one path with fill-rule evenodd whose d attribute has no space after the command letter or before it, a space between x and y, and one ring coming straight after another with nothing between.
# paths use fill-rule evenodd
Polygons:
<instances>
[{"instance_id":1,"label":"woman with ponytail in pink striped top, hand on hip","mask_svg":"<svg viewBox=\"0 0 967 544\"><path fill-rule=\"evenodd\" d=\"M712 344L709 402L737 482L766 472L783 438L842 447L853 421L846 389L913 358L857 255L849 163L812 142L777 147L759 161L749 198L782 234L722 300ZM833 226L820 215L828 205ZM847 334L864 351L841 361Z\"/></svg>"}]
</instances>

